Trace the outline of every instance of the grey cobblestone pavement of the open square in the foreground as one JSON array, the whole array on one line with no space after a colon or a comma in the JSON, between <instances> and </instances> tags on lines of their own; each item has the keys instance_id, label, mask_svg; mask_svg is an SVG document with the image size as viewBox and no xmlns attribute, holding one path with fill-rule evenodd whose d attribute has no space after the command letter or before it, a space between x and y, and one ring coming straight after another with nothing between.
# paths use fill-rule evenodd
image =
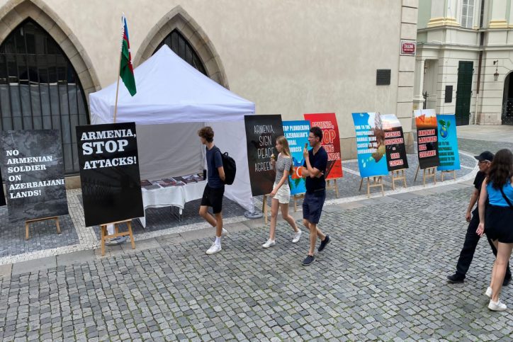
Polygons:
<instances>
[{"instance_id":1,"label":"grey cobblestone pavement of the open square in the foreground","mask_svg":"<svg viewBox=\"0 0 513 342\"><path fill-rule=\"evenodd\" d=\"M308 268L308 233L292 244L280 222L271 249L266 227L235 224L214 256L193 239L3 278L0 340L511 341L511 309L486 308L485 241L465 283L445 280L466 232L461 187L327 206L332 242ZM511 286L501 297L513 307Z\"/></svg>"}]
</instances>

